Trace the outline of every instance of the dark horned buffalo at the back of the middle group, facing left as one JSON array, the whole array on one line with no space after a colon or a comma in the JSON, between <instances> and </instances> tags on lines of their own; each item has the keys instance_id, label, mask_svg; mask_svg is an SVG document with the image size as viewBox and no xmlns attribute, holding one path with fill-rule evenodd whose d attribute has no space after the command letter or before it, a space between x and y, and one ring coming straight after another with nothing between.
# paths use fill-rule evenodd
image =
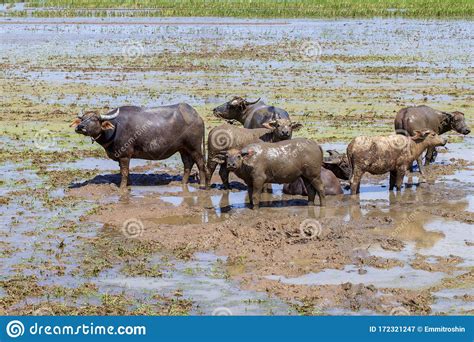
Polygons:
<instances>
[{"instance_id":1,"label":"dark horned buffalo at the back of the middle group, facing left","mask_svg":"<svg viewBox=\"0 0 474 342\"><path fill-rule=\"evenodd\" d=\"M241 97L234 97L229 102L214 108L213 112L218 118L237 120L245 128L261 128L265 122L290 119L288 113L281 108L268 106L260 99L249 102Z\"/></svg>"}]
</instances>

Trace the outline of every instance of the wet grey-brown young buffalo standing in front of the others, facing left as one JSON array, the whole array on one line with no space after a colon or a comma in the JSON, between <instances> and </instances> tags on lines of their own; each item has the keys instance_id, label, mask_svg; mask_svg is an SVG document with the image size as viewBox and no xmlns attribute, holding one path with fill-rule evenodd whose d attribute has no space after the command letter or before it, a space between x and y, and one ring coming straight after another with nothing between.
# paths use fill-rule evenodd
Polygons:
<instances>
[{"instance_id":1,"label":"wet grey-brown young buffalo standing in front of the others, facing left","mask_svg":"<svg viewBox=\"0 0 474 342\"><path fill-rule=\"evenodd\" d=\"M259 142L241 150L229 150L215 159L226 163L228 170L244 180L254 208L259 207L265 183L292 183L299 177L303 178L308 190L308 205L314 205L316 193L321 206L325 204L321 181L323 151L312 140L298 138L276 143Z\"/></svg>"}]
</instances>

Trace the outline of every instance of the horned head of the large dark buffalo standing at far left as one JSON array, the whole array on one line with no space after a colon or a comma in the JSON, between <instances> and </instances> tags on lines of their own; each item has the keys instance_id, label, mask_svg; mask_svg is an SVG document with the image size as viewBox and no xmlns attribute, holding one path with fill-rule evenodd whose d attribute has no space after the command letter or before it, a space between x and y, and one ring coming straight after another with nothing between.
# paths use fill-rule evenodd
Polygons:
<instances>
[{"instance_id":1,"label":"horned head of the large dark buffalo standing at far left","mask_svg":"<svg viewBox=\"0 0 474 342\"><path fill-rule=\"evenodd\" d=\"M119 112L120 108L107 114L98 114L94 111L81 112L71 123L71 127L75 127L76 133L98 139L103 131L115 128L109 120L115 119Z\"/></svg>"}]
</instances>

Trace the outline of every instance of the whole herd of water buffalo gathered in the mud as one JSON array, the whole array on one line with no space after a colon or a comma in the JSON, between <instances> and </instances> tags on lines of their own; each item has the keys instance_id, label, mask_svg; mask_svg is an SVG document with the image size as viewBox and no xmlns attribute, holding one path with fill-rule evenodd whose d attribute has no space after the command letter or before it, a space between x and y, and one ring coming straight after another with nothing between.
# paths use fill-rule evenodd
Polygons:
<instances>
[{"instance_id":1,"label":"whole herd of water buffalo gathered in the mud","mask_svg":"<svg viewBox=\"0 0 474 342\"><path fill-rule=\"evenodd\" d=\"M351 194L358 193L366 172L389 172L390 190L400 190L414 161L423 174L425 150L425 164L434 161L436 146L447 142L441 134L450 130L470 133L461 112L441 112L424 105L408 107L395 118L398 134L356 137L346 154L327 151L329 156L324 157L315 141L291 139L301 124L291 121L285 110L260 99L250 102L234 97L213 112L226 122L209 132L207 163L204 121L185 103L156 108L123 106L107 114L90 111L79 114L72 126L119 162L121 188L129 183L130 159L162 160L179 152L183 183L197 164L200 186L208 187L220 164L224 188L229 187L229 172L234 172L245 181L254 208L259 206L265 184L271 183L284 184L287 194L307 195L309 205L314 204L316 194L321 205L326 195L342 194L339 179L350 180Z\"/></svg>"}]
</instances>

